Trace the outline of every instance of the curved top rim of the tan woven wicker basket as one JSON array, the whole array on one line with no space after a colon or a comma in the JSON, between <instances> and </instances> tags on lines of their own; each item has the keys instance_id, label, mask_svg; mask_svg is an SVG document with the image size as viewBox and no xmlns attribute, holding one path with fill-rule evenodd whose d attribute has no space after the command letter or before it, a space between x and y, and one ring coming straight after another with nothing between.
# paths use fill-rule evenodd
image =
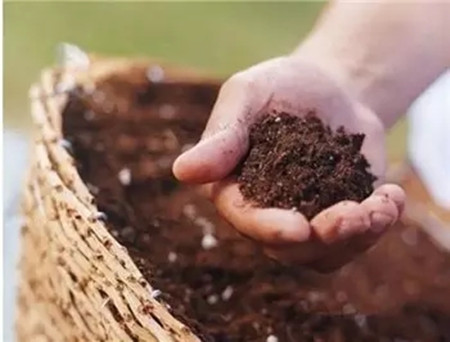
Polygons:
<instances>
[{"instance_id":1,"label":"curved top rim of the tan woven wicker basket","mask_svg":"<svg viewBox=\"0 0 450 342\"><path fill-rule=\"evenodd\" d=\"M127 299L134 300L135 306L148 305L151 308L150 313L136 312L136 310L132 312L141 328L147 330L155 341L200 341L190 327L175 318L168 308L152 296L151 284L143 277L126 248L109 233L106 224L95 217L99 211L93 204L94 197L78 174L74 158L61 143L64 141L62 112L67 104L70 89L95 86L107 77L126 75L133 69L148 68L151 65L158 65L168 71L168 77L160 83L180 82L216 86L221 83L219 78L207 76L206 73L173 67L168 63L156 63L154 59L94 57L87 69L61 66L45 69L40 81L30 89L31 114L39 136L36 146L40 146L40 151L47 156L39 158L41 161L47 160L48 163L41 166L43 170L47 169L48 177L53 178L55 188L57 187L60 193L61 188L63 189L64 196L70 199L72 206L81 214L86 224L95 231L99 240L101 239L102 243L108 241L108 244L112 246L111 255L108 255L108 258L117 262L110 266L120 270L118 273L122 281L126 287L129 287L128 292L131 294ZM70 89L65 89L65 85L70 86ZM128 276L131 276L134 281L128 281Z\"/></svg>"}]
</instances>

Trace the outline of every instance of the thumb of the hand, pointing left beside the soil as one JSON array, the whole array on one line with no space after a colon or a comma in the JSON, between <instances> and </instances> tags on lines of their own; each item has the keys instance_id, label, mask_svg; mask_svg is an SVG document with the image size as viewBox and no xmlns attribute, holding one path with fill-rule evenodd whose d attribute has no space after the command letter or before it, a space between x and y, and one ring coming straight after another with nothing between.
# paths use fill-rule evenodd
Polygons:
<instances>
[{"instance_id":1,"label":"thumb of the hand, pointing left beside the soil","mask_svg":"<svg viewBox=\"0 0 450 342\"><path fill-rule=\"evenodd\" d=\"M241 75L220 89L200 142L175 160L173 173L180 181L209 183L225 178L247 152L252 108L248 83Z\"/></svg>"}]
</instances>

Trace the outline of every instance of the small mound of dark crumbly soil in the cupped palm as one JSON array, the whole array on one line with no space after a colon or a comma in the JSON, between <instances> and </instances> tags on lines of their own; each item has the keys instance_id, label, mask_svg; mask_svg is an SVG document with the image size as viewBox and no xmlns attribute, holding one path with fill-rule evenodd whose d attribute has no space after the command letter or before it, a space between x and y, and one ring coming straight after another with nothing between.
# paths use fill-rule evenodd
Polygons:
<instances>
[{"instance_id":1,"label":"small mound of dark crumbly soil in the cupped palm","mask_svg":"<svg viewBox=\"0 0 450 342\"><path fill-rule=\"evenodd\" d=\"M295 208L311 219L342 200L362 201L376 177L361 154L364 134L333 132L308 114L268 115L250 129L240 190L261 207Z\"/></svg>"}]
</instances>

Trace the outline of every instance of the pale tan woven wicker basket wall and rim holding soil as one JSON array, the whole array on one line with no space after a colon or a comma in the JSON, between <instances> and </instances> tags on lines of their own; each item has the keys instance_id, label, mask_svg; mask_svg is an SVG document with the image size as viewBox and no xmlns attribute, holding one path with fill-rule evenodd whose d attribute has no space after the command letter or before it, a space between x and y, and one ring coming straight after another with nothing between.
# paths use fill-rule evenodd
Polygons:
<instances>
[{"instance_id":1,"label":"pale tan woven wicker basket wall and rim holding soil","mask_svg":"<svg viewBox=\"0 0 450 342\"><path fill-rule=\"evenodd\" d=\"M150 63L91 58L87 67L46 70L32 87L37 129L23 200L19 341L200 340L152 298L151 284L106 229L61 143L66 88L126 77ZM216 82L184 69L163 69L164 82Z\"/></svg>"}]
</instances>

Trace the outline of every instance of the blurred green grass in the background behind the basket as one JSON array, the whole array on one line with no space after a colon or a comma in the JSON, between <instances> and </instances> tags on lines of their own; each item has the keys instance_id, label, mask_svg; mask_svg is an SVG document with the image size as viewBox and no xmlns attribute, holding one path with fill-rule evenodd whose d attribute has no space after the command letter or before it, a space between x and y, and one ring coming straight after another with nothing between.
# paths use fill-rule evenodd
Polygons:
<instances>
[{"instance_id":1,"label":"blurred green grass in the background behind the basket","mask_svg":"<svg viewBox=\"0 0 450 342\"><path fill-rule=\"evenodd\" d=\"M60 42L102 54L158 57L227 76L292 50L322 7L317 2L5 3L5 125L30 126L28 87L40 69L55 62ZM399 145L403 134L391 145Z\"/></svg>"}]
</instances>

